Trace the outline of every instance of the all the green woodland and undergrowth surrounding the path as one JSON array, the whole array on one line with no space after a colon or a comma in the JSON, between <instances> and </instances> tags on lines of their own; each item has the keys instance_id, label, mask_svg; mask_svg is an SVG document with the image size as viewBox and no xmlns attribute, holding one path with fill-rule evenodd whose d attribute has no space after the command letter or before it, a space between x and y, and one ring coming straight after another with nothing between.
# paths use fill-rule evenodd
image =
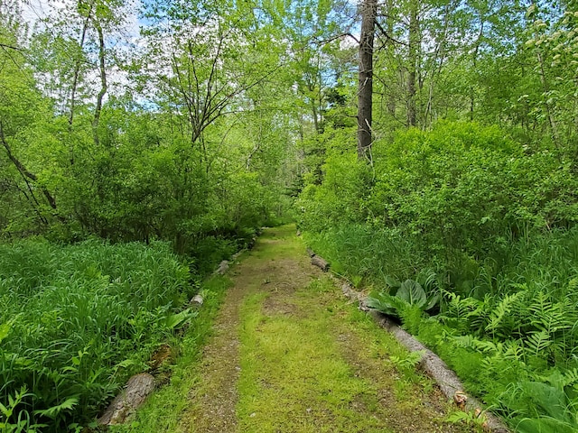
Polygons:
<instances>
[{"instance_id":1,"label":"all the green woodland and undergrowth surrounding the path","mask_svg":"<svg viewBox=\"0 0 578 433\"><path fill-rule=\"evenodd\" d=\"M88 425L292 219L512 428L578 430L577 85L571 0L0 0L0 431Z\"/></svg>"}]
</instances>

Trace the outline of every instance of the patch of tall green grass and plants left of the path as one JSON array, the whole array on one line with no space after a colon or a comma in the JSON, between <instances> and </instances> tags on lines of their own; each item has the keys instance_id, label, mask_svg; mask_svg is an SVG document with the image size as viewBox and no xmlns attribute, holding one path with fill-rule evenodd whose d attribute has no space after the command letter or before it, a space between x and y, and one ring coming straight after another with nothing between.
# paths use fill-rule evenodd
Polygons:
<instances>
[{"instance_id":1,"label":"patch of tall green grass and plants left of the path","mask_svg":"<svg viewBox=\"0 0 578 433\"><path fill-rule=\"evenodd\" d=\"M180 310L189 277L169 244L0 245L0 421L64 431L93 417L196 316Z\"/></svg>"}]
</instances>

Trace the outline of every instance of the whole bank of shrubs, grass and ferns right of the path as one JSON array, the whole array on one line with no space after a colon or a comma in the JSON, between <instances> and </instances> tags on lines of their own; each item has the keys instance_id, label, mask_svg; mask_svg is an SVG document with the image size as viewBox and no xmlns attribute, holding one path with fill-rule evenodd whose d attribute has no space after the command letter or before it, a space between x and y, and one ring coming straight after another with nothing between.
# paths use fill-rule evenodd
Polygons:
<instances>
[{"instance_id":1,"label":"whole bank of shrubs, grass and ferns right of the path","mask_svg":"<svg viewBox=\"0 0 578 433\"><path fill-rule=\"evenodd\" d=\"M517 431L578 430L578 177L568 161L459 123L378 142L372 165L328 152L323 179L297 201L312 249L373 290L374 307ZM398 281L424 293L397 296Z\"/></svg>"}]
</instances>

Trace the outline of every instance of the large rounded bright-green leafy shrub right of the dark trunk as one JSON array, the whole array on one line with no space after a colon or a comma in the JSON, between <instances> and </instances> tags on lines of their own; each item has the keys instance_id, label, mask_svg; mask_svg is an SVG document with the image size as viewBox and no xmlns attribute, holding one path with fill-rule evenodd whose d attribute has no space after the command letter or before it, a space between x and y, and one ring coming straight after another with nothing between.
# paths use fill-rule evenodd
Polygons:
<instances>
[{"instance_id":1,"label":"large rounded bright-green leafy shrub right of the dark trunk","mask_svg":"<svg viewBox=\"0 0 578 433\"><path fill-rule=\"evenodd\" d=\"M368 216L431 249L479 255L499 238L573 224L578 180L554 153L526 154L497 127L441 123L374 146Z\"/></svg>"}]
</instances>

